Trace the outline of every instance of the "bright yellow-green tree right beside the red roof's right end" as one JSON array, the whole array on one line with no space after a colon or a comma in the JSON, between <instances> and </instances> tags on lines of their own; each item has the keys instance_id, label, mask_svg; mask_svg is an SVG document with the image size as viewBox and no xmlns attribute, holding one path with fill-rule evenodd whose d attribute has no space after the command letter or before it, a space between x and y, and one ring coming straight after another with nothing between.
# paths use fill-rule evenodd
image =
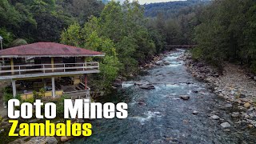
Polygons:
<instances>
[{"instance_id":1,"label":"bright yellow-green tree right beside the red roof's right end","mask_svg":"<svg viewBox=\"0 0 256 144\"><path fill-rule=\"evenodd\" d=\"M92 18L91 22L97 19ZM110 86L114 79L118 76L120 63L118 61L118 54L116 53L114 42L109 38L100 37L97 31L90 27L90 22L81 28L78 23L69 26L69 28L62 32L62 43L84 47L88 50L97 50L105 53L104 58L94 58L93 60L100 62L100 74L91 75L93 79L91 86L94 90L110 90Z\"/></svg>"}]
</instances>

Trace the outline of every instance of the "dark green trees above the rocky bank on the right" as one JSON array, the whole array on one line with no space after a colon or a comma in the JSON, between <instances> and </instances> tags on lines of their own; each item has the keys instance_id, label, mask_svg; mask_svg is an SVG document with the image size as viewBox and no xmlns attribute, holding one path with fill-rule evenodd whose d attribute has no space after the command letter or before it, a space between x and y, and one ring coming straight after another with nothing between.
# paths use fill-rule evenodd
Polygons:
<instances>
[{"instance_id":1,"label":"dark green trees above the rocky bank on the right","mask_svg":"<svg viewBox=\"0 0 256 144\"><path fill-rule=\"evenodd\" d=\"M222 66L239 62L256 74L256 1L214 1L198 15L194 58Z\"/></svg>"}]
</instances>

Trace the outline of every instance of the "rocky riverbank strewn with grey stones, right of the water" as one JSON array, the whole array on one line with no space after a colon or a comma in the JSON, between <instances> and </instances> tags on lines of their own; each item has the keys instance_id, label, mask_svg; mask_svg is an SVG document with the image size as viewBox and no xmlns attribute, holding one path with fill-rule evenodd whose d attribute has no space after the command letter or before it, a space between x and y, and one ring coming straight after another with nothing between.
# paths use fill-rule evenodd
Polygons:
<instances>
[{"instance_id":1,"label":"rocky riverbank strewn with grey stones, right of the water","mask_svg":"<svg viewBox=\"0 0 256 144\"><path fill-rule=\"evenodd\" d=\"M206 62L196 62L187 52L183 59L187 70L201 81L212 86L214 94L225 98L230 107L236 107L230 113L232 118L236 118L236 123L256 128L256 82L254 78L242 70L240 66L226 62L223 74Z\"/></svg>"}]
</instances>

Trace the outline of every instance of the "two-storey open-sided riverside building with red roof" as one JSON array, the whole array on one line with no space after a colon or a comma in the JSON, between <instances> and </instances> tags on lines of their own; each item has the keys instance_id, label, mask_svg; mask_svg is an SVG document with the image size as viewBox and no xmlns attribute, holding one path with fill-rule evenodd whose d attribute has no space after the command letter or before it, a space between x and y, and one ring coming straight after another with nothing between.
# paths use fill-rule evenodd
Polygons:
<instances>
[{"instance_id":1,"label":"two-storey open-sided riverside building with red roof","mask_svg":"<svg viewBox=\"0 0 256 144\"><path fill-rule=\"evenodd\" d=\"M88 97L86 74L99 73L99 63L88 60L104 55L54 42L15 46L0 50L0 80L11 79L14 97L21 94L24 99L33 97L31 90L42 88L45 96Z\"/></svg>"}]
</instances>

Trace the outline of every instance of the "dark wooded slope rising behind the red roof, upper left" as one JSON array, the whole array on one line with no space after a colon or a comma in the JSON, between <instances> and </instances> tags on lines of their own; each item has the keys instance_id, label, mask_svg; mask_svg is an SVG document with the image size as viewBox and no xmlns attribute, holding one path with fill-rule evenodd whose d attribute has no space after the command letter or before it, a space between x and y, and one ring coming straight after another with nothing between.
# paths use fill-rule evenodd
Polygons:
<instances>
[{"instance_id":1,"label":"dark wooded slope rising behind the red roof, upper left","mask_svg":"<svg viewBox=\"0 0 256 144\"><path fill-rule=\"evenodd\" d=\"M83 25L90 15L98 16L103 7L97 0L1 0L3 47L59 42L64 28L74 22Z\"/></svg>"}]
</instances>

